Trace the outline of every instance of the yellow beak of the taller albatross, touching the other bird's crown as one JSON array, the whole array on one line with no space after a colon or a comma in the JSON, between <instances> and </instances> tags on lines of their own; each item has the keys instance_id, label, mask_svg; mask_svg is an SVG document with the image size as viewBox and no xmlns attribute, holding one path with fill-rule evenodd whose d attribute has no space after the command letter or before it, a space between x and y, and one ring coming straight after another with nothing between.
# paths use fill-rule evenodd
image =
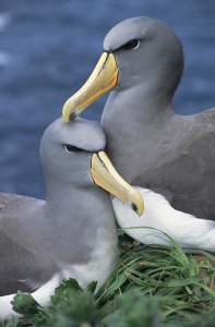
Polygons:
<instances>
[{"instance_id":1,"label":"yellow beak of the taller albatross, touching the other bird's crown","mask_svg":"<svg viewBox=\"0 0 215 327\"><path fill-rule=\"evenodd\" d=\"M65 122L79 116L103 94L117 85L118 66L112 53L103 52L98 63L86 83L70 97L63 106L62 118Z\"/></svg>"}]
</instances>

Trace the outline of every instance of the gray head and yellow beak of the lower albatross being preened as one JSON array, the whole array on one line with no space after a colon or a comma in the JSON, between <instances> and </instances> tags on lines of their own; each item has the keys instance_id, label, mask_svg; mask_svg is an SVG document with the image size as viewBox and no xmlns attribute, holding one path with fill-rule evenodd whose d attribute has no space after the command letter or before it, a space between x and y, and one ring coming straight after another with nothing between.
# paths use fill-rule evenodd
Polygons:
<instances>
[{"instance_id":1,"label":"gray head and yellow beak of the lower albatross being preened","mask_svg":"<svg viewBox=\"0 0 215 327\"><path fill-rule=\"evenodd\" d=\"M105 133L97 122L76 118L64 123L58 119L49 125L40 142L47 198L51 193L51 201L59 201L62 197L60 191L64 194L67 190L73 190L75 196L75 187L91 192L96 184L141 216L141 195L115 170L104 152L105 145Z\"/></svg>"}]
</instances>

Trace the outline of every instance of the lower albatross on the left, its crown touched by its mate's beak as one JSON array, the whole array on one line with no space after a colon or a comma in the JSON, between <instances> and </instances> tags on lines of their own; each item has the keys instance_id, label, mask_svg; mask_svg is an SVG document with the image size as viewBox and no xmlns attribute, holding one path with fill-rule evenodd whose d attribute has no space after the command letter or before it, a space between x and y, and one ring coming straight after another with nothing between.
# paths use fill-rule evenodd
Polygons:
<instances>
[{"instance_id":1,"label":"lower albatross on the left, its crown touched by its mate's beak","mask_svg":"<svg viewBox=\"0 0 215 327\"><path fill-rule=\"evenodd\" d=\"M58 119L40 142L46 201L0 194L1 319L15 315L11 301L17 290L32 291L45 305L62 279L100 286L115 267L117 229L106 191L139 215L143 202L117 173L105 145L98 123Z\"/></svg>"}]
</instances>

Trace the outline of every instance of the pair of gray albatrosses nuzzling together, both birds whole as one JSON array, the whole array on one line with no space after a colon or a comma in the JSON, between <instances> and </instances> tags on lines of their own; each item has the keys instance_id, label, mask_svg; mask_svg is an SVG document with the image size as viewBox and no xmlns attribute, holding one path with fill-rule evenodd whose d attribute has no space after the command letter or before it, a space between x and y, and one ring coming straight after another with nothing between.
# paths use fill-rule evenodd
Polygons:
<instances>
[{"instance_id":1,"label":"pair of gray albatrosses nuzzling together, both birds whole","mask_svg":"<svg viewBox=\"0 0 215 327\"><path fill-rule=\"evenodd\" d=\"M101 120L107 149L130 183L147 187L139 189L141 219L112 199L118 222L143 243L169 244L165 231L184 247L215 251L215 111L172 112L183 66L178 38L164 23L139 17L114 27L104 47L63 118L68 122L115 87ZM105 145L98 124L58 120L40 146L46 202L0 195L0 294L9 294L0 298L0 318L13 314L17 289L37 289L33 295L45 304L62 278L83 287L107 278L117 258L115 217L109 195L94 183L139 215L143 203L115 171Z\"/></svg>"}]
</instances>

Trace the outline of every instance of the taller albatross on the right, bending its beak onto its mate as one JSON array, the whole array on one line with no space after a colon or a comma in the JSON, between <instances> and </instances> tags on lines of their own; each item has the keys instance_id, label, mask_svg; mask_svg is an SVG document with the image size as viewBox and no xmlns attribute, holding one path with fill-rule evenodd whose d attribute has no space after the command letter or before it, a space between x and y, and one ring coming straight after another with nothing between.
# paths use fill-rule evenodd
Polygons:
<instances>
[{"instance_id":1,"label":"taller albatross on the right, bending its beak onto its mate","mask_svg":"<svg viewBox=\"0 0 215 327\"><path fill-rule=\"evenodd\" d=\"M138 219L114 199L119 225L143 243L168 244L140 228L154 227L184 247L215 251L215 109L174 112L182 71L181 43L166 24L126 20L107 34L94 72L62 114L70 121L111 90L101 117L107 152L129 183L144 187L145 203Z\"/></svg>"}]
</instances>

